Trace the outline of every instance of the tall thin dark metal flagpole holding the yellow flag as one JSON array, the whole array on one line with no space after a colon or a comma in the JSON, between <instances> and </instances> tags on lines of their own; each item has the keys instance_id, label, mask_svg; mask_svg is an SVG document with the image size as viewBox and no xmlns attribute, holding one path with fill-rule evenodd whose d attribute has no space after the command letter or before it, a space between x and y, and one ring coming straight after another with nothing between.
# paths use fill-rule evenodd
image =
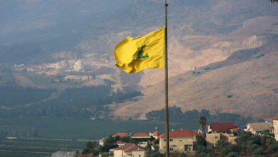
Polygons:
<instances>
[{"instance_id":1,"label":"tall thin dark metal flagpole holding the yellow flag","mask_svg":"<svg viewBox=\"0 0 278 157\"><path fill-rule=\"evenodd\" d=\"M165 0L165 134L166 157L169 157L167 6L167 0Z\"/></svg>"}]
</instances>

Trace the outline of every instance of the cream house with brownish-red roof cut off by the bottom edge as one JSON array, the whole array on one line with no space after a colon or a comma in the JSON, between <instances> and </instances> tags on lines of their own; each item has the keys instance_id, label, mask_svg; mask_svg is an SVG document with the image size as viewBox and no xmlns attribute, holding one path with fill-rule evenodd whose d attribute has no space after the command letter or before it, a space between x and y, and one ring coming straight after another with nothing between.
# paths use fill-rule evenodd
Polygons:
<instances>
[{"instance_id":1,"label":"cream house with brownish-red roof cut off by the bottom edge","mask_svg":"<svg viewBox=\"0 0 278 157\"><path fill-rule=\"evenodd\" d=\"M126 143L124 146L113 148L115 157L145 157L146 150L134 143Z\"/></svg>"}]
</instances>

